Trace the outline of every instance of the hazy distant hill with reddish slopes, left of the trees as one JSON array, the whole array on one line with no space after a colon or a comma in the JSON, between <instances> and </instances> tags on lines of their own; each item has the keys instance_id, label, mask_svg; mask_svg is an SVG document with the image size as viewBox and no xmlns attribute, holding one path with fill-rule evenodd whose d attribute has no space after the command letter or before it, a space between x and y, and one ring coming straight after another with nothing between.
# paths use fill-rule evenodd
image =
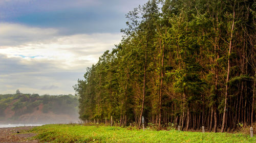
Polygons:
<instances>
[{"instance_id":1,"label":"hazy distant hill with reddish slopes, left of the trees","mask_svg":"<svg viewBox=\"0 0 256 143\"><path fill-rule=\"evenodd\" d=\"M0 123L73 123L78 97L73 95L0 95Z\"/></svg>"}]
</instances>

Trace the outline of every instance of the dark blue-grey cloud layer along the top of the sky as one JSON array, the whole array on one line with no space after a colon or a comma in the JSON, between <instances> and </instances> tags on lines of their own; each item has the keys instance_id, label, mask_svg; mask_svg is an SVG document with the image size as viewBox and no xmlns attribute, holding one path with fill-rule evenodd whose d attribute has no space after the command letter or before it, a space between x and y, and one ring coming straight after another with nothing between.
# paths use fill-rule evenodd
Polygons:
<instances>
[{"instance_id":1,"label":"dark blue-grey cloud layer along the top of the sky","mask_svg":"<svg viewBox=\"0 0 256 143\"><path fill-rule=\"evenodd\" d=\"M0 20L37 27L58 28L63 34L112 33L125 28L125 14L147 0L9 1Z\"/></svg>"}]
</instances>

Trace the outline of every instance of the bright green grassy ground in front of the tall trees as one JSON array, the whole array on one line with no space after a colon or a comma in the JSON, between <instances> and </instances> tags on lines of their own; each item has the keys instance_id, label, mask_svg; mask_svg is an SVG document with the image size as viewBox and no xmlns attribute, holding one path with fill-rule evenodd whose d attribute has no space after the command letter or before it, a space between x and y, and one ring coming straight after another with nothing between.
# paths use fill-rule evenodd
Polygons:
<instances>
[{"instance_id":1,"label":"bright green grassy ground in front of the tall trees","mask_svg":"<svg viewBox=\"0 0 256 143\"><path fill-rule=\"evenodd\" d=\"M256 137L231 133L136 130L110 126L44 125L32 132L51 142L256 142Z\"/></svg>"}]
</instances>

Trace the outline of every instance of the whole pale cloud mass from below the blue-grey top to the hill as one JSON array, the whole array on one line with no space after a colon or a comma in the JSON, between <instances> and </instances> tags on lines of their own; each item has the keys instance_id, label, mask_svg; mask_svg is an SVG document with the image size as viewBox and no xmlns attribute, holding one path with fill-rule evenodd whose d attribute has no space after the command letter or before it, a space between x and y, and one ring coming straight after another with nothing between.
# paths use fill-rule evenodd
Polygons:
<instances>
[{"instance_id":1,"label":"whole pale cloud mass from below the blue-grey top to the hill","mask_svg":"<svg viewBox=\"0 0 256 143\"><path fill-rule=\"evenodd\" d=\"M17 89L23 93L74 94L72 85L82 78L86 67L120 40L121 34L60 36L54 29L0 23L0 84L4 85L0 94Z\"/></svg>"}]
</instances>

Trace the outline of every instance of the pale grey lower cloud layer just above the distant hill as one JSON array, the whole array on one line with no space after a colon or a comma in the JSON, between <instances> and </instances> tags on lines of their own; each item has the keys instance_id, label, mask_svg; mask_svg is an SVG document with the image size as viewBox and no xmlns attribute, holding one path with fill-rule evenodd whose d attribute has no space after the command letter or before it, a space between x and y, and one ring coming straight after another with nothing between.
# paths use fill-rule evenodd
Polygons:
<instances>
[{"instance_id":1,"label":"pale grey lower cloud layer just above the distant hill","mask_svg":"<svg viewBox=\"0 0 256 143\"><path fill-rule=\"evenodd\" d=\"M59 64L54 60L8 58L0 54L0 94L15 93L17 89L23 93L41 95L74 94L72 86L76 84L78 78L82 78L86 66L91 63L70 69L63 69Z\"/></svg>"}]
</instances>

